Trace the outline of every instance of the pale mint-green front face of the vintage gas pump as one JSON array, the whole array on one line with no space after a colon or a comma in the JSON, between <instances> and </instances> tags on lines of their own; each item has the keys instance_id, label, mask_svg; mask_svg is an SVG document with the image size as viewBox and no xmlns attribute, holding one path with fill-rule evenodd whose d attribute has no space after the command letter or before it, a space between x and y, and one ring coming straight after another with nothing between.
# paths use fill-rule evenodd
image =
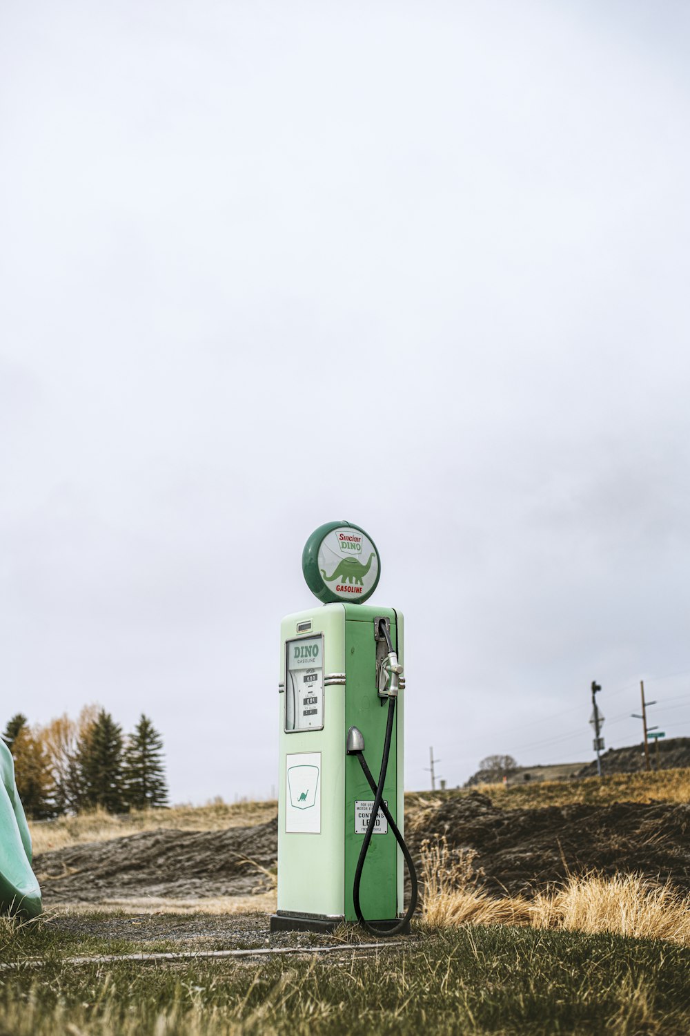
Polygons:
<instances>
[{"instance_id":1,"label":"pale mint-green front face of the vintage gas pump","mask_svg":"<svg viewBox=\"0 0 690 1036\"><path fill-rule=\"evenodd\" d=\"M280 628L280 683L286 682L286 641L297 623L311 621L307 636L324 634L324 675L344 672L344 606L319 605L288 615ZM278 694L278 910L289 914L342 917L344 802L344 687L324 688L324 729L284 729L284 691ZM288 832L288 756L320 753L320 832ZM303 761L300 759L299 761ZM306 815L306 814L305 814ZM309 814L310 815L310 814Z\"/></svg>"}]
</instances>

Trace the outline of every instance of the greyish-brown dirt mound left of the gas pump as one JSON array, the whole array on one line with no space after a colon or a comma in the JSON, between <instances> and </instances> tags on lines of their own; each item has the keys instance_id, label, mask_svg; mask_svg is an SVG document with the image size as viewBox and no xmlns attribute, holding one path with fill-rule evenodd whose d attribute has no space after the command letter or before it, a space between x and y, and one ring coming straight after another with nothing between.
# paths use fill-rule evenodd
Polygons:
<instances>
[{"instance_id":1,"label":"greyish-brown dirt mound left of the gas pump","mask_svg":"<svg viewBox=\"0 0 690 1036\"><path fill-rule=\"evenodd\" d=\"M275 869L277 821L227 831L146 831L42 853L34 864L46 903L133 896L247 895Z\"/></svg>"}]
</instances>

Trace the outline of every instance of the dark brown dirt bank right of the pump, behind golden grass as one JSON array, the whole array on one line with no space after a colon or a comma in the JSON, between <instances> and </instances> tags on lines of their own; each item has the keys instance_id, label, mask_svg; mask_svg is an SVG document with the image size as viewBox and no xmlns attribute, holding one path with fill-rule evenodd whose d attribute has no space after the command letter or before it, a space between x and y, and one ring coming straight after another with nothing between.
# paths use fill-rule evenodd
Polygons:
<instances>
[{"instance_id":1,"label":"dark brown dirt bank right of the pump, behind golden grass","mask_svg":"<svg viewBox=\"0 0 690 1036\"><path fill-rule=\"evenodd\" d=\"M474 792L429 811L410 836L413 855L419 858L424 838L442 835L452 847L476 851L491 892L529 894L592 868L669 879L690 891L690 804L501 809Z\"/></svg>"}]
</instances>

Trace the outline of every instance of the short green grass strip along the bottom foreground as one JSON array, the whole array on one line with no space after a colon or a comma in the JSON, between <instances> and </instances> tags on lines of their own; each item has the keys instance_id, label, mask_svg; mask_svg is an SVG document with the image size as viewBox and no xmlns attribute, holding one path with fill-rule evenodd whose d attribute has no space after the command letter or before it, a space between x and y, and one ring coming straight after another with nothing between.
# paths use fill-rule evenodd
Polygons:
<instances>
[{"instance_id":1,"label":"short green grass strip along the bottom foreground","mask_svg":"<svg viewBox=\"0 0 690 1036\"><path fill-rule=\"evenodd\" d=\"M152 949L127 942L122 952ZM205 947L206 949L207 947ZM404 949L332 957L89 965L111 941L62 942L44 925L2 957L0 1036L320 1036L348 1033L686 1034L690 952L608 934L490 926L417 928Z\"/></svg>"}]
</instances>

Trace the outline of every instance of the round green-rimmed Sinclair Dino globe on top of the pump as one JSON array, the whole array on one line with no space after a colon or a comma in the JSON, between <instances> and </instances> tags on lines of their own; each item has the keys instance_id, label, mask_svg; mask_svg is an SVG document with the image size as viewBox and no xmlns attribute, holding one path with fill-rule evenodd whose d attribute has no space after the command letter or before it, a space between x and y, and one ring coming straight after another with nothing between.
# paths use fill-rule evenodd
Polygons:
<instances>
[{"instance_id":1,"label":"round green-rimmed Sinclair Dino globe on top of the pump","mask_svg":"<svg viewBox=\"0 0 690 1036\"><path fill-rule=\"evenodd\" d=\"M359 525L329 521L304 544L302 572L323 604L363 604L379 584L381 558L373 540Z\"/></svg>"}]
</instances>

